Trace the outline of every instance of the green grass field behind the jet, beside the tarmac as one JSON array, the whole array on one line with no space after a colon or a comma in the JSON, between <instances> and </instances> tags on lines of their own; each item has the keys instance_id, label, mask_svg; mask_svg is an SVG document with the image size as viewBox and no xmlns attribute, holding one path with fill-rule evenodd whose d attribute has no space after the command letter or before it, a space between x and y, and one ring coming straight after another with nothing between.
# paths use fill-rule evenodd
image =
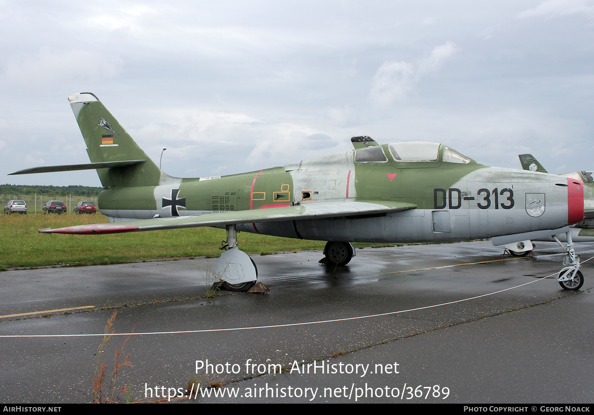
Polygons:
<instances>
[{"instance_id":1,"label":"green grass field behind the jet, beside the tarmac","mask_svg":"<svg viewBox=\"0 0 594 415\"><path fill-rule=\"evenodd\" d=\"M210 227L117 235L45 235L38 229L107 222L94 215L1 215L0 270L48 265L117 264L142 259L220 255L225 230ZM248 254L323 249L325 242L242 232L239 247ZM369 246L378 244L357 244Z\"/></svg>"}]
</instances>

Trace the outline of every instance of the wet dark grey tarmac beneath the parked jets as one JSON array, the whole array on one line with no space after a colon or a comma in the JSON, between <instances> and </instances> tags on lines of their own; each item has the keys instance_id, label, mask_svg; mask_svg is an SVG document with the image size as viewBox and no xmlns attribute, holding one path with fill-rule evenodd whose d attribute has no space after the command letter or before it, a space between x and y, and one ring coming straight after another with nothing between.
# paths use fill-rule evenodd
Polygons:
<instances>
[{"instance_id":1,"label":"wet dark grey tarmac beneath the parked jets","mask_svg":"<svg viewBox=\"0 0 594 415\"><path fill-rule=\"evenodd\" d=\"M214 297L216 259L6 271L0 400L90 403L100 358L102 398L120 402L127 385L131 401L184 404L592 403L594 260L562 290L560 247L536 245L365 248L342 268L320 251L254 255L270 292ZM131 366L110 389L122 346Z\"/></svg>"}]
</instances>

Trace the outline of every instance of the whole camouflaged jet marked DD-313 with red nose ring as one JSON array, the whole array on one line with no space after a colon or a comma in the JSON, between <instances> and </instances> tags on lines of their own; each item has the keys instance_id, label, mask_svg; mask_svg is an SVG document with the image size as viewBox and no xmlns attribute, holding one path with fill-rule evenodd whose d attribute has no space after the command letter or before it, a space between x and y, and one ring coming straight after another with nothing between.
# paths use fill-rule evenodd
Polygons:
<instances>
[{"instance_id":1,"label":"whole camouflaged jet marked DD-313 with red nose ring","mask_svg":"<svg viewBox=\"0 0 594 415\"><path fill-rule=\"evenodd\" d=\"M228 240L215 275L247 291L255 264L236 231L328 241L324 262L346 265L351 242L438 242L489 238L503 245L570 232L583 220L583 183L544 173L488 167L434 142L380 145L353 137L355 150L222 177L167 175L91 93L68 97L91 163L12 174L96 169L97 205L110 223L40 230L106 233L214 226ZM568 239L567 251L573 251ZM579 262L561 286L579 289Z\"/></svg>"}]
</instances>

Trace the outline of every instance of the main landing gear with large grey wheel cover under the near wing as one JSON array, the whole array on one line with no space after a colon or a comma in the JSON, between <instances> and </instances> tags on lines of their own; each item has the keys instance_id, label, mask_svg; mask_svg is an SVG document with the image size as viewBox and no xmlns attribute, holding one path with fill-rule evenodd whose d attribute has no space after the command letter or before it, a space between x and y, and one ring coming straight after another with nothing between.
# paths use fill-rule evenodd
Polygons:
<instances>
[{"instance_id":1,"label":"main landing gear with large grey wheel cover under the near wing","mask_svg":"<svg viewBox=\"0 0 594 415\"><path fill-rule=\"evenodd\" d=\"M235 225L227 226L227 240L220 249L225 249L225 252L214 267L214 276L225 290L247 292L256 283L258 269L248 254L237 248Z\"/></svg>"}]
</instances>

